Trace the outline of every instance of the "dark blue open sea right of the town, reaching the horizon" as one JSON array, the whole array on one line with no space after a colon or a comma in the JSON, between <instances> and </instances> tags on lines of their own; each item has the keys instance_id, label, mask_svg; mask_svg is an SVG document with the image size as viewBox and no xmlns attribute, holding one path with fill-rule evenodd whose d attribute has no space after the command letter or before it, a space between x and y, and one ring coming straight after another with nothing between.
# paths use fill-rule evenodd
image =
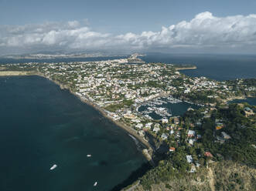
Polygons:
<instances>
[{"instance_id":1,"label":"dark blue open sea right of the town, reaching the horizon","mask_svg":"<svg viewBox=\"0 0 256 191\"><path fill-rule=\"evenodd\" d=\"M183 70L185 75L206 76L210 79L256 78L256 55L183 55L148 54L145 62L192 64L197 69Z\"/></svg>"}]
</instances>

